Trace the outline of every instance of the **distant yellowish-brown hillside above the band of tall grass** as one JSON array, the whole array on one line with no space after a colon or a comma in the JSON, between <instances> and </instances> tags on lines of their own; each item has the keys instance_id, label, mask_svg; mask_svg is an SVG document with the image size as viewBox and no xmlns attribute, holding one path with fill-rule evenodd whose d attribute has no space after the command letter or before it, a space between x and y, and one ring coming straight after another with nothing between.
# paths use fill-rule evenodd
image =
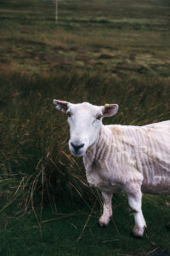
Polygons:
<instances>
[{"instance_id":1,"label":"distant yellowish-brown hillside above the band of tall grass","mask_svg":"<svg viewBox=\"0 0 170 256\"><path fill-rule=\"evenodd\" d=\"M0 3L1 69L102 69L169 76L169 2L8 0Z\"/></svg>"}]
</instances>

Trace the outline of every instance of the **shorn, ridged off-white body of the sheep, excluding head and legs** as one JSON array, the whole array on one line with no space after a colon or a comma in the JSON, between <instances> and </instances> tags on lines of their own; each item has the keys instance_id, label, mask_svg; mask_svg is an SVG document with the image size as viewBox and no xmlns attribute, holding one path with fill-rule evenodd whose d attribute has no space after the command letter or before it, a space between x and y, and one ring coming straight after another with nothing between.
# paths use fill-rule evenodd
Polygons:
<instances>
[{"instance_id":1,"label":"shorn, ridged off-white body of the sheep, excluding head and legs","mask_svg":"<svg viewBox=\"0 0 170 256\"><path fill-rule=\"evenodd\" d=\"M88 183L102 191L139 183L144 193L170 193L170 121L102 125L83 161Z\"/></svg>"}]
</instances>

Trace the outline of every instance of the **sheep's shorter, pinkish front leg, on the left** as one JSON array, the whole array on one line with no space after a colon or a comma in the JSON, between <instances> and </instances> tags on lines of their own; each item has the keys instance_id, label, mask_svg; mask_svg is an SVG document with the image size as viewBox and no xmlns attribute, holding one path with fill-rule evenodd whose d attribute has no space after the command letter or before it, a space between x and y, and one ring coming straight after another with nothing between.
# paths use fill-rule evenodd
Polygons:
<instances>
[{"instance_id":1,"label":"sheep's shorter, pinkish front leg, on the left","mask_svg":"<svg viewBox=\"0 0 170 256\"><path fill-rule=\"evenodd\" d=\"M101 227L109 225L111 216L112 216L112 207L111 207L112 195L109 193L102 192L102 196L104 201L104 208L103 208L103 214L99 218L99 225Z\"/></svg>"}]
</instances>

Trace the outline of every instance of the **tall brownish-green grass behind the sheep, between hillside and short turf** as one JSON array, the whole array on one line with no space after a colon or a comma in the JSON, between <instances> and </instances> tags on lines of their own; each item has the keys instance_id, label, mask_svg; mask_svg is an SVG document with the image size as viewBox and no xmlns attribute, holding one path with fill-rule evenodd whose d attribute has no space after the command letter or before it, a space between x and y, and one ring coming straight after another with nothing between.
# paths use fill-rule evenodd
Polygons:
<instances>
[{"instance_id":1,"label":"tall brownish-green grass behind the sheep, between hillside and short turf","mask_svg":"<svg viewBox=\"0 0 170 256\"><path fill-rule=\"evenodd\" d=\"M105 124L144 125L170 115L168 79L125 80L86 71L5 73L0 88L0 185L8 191L8 204L20 199L23 212L37 204L56 207L61 200L99 200L88 188L82 160L68 150L66 116L55 110L54 98L118 103L119 112Z\"/></svg>"}]
</instances>

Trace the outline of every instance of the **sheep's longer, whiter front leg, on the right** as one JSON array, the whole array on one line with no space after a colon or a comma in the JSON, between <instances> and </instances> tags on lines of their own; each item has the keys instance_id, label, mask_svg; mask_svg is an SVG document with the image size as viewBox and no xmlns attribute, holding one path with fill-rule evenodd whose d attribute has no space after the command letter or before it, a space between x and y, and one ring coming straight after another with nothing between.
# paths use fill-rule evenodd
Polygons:
<instances>
[{"instance_id":1,"label":"sheep's longer, whiter front leg, on the right","mask_svg":"<svg viewBox=\"0 0 170 256\"><path fill-rule=\"evenodd\" d=\"M131 185L132 186L132 185ZM128 204L134 211L135 225L133 228L133 236L142 237L146 223L142 213L142 192L140 187L136 185L127 189Z\"/></svg>"}]
</instances>

